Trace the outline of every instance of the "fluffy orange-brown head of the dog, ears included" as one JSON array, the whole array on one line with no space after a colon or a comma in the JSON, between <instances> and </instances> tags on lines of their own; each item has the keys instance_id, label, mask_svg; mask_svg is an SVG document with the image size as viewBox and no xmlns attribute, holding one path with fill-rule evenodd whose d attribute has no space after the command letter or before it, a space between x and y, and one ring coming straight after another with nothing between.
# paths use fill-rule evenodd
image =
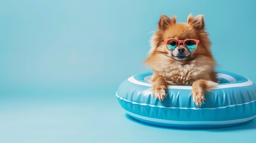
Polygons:
<instances>
[{"instance_id":1,"label":"fluffy orange-brown head of the dog, ears included","mask_svg":"<svg viewBox=\"0 0 256 143\"><path fill-rule=\"evenodd\" d=\"M168 41L168 39L172 40ZM198 43L188 39L195 39ZM193 44L196 44L196 48L189 47ZM211 42L208 39L208 33L205 32L203 15L192 17L190 14L187 17L187 23L176 23L176 17L169 18L166 15L161 15L158 30L151 39L151 49L146 63L157 60L153 58L155 55L158 58L179 62L190 61L198 55L212 58L210 46Z\"/></svg>"}]
</instances>

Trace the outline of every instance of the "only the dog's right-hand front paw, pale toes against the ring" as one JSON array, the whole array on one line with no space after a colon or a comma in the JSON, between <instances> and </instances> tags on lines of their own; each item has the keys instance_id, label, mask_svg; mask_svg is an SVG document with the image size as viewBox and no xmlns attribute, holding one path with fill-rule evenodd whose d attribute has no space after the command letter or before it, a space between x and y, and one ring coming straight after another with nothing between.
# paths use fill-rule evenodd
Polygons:
<instances>
[{"instance_id":1,"label":"only the dog's right-hand front paw, pale toes against the ring","mask_svg":"<svg viewBox=\"0 0 256 143\"><path fill-rule=\"evenodd\" d=\"M200 107L205 103L205 92L201 88L192 88L193 102Z\"/></svg>"}]
</instances>

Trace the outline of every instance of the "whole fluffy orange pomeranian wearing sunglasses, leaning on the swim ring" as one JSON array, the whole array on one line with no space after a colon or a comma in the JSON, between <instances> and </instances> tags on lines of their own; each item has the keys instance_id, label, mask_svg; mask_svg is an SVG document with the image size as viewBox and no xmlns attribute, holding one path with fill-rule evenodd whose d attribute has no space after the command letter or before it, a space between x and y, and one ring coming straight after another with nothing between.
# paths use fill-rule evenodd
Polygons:
<instances>
[{"instance_id":1,"label":"whole fluffy orange pomeranian wearing sunglasses, leaning on the swim ring","mask_svg":"<svg viewBox=\"0 0 256 143\"><path fill-rule=\"evenodd\" d=\"M200 107L205 92L217 86L216 63L203 15L190 14L187 23L176 23L175 16L161 15L150 43L144 63L153 70L152 94L163 101L168 85L192 85L193 102Z\"/></svg>"}]
</instances>

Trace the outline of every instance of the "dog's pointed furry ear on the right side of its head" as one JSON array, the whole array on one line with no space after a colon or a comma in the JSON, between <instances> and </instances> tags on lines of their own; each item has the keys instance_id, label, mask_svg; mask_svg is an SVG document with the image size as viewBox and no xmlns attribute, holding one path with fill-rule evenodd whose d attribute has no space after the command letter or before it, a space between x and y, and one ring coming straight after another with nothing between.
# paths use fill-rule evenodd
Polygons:
<instances>
[{"instance_id":1,"label":"dog's pointed furry ear on the right side of its head","mask_svg":"<svg viewBox=\"0 0 256 143\"><path fill-rule=\"evenodd\" d=\"M189 23L196 30L205 29L205 21L203 21L203 15L199 14L193 18L192 14L187 17L187 23Z\"/></svg>"}]
</instances>

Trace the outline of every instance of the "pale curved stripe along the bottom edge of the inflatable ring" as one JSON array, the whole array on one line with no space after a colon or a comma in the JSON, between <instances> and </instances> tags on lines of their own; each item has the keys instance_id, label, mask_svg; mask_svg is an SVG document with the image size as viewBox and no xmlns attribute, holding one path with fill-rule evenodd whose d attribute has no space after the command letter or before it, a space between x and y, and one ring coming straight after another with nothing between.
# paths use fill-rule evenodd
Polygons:
<instances>
[{"instance_id":1,"label":"pale curved stripe along the bottom edge of the inflatable ring","mask_svg":"<svg viewBox=\"0 0 256 143\"><path fill-rule=\"evenodd\" d=\"M156 119L152 117L145 117L138 114L131 113L125 110L127 114L137 117L138 119L149 120L151 122L158 122L158 123L166 123L172 125L226 125L226 124L233 124L233 123L243 123L247 122L251 119L254 119L255 116L243 118L243 119L236 119L236 120L223 120L223 121L175 121L175 120L164 120L164 119Z\"/></svg>"}]
</instances>

